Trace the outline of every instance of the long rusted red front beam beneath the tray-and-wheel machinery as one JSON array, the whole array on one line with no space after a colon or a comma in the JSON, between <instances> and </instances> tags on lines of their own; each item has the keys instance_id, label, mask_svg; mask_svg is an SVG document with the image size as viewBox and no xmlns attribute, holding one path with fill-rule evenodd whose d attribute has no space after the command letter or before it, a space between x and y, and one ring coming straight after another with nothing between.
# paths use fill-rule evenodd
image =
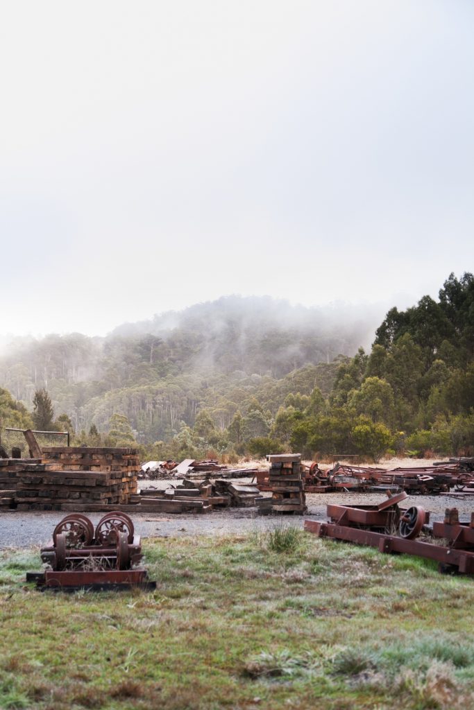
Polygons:
<instances>
[{"instance_id":1,"label":"long rusted red front beam beneath the tray-and-wheel machinery","mask_svg":"<svg viewBox=\"0 0 474 710\"><path fill-rule=\"evenodd\" d=\"M315 533L318 537L331 537L335 540L355 542L357 545L376 547L379 552L403 552L406 555L434 559L440 564L458 567L459 572L464 574L474 574L474 552L431 545L429 542L419 540L406 540L404 537L385 535L383 532L321 523L318 520L305 520L304 529Z\"/></svg>"}]
</instances>

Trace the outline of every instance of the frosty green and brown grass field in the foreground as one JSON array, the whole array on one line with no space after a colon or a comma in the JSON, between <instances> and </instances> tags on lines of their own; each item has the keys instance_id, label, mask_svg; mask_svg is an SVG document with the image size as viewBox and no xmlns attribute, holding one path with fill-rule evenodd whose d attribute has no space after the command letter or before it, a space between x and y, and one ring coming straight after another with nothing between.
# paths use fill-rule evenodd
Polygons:
<instances>
[{"instance_id":1,"label":"frosty green and brown grass field in the foreground","mask_svg":"<svg viewBox=\"0 0 474 710\"><path fill-rule=\"evenodd\" d=\"M144 541L153 593L41 594L0 557L0 707L474 709L474 580L280 528Z\"/></svg>"}]
</instances>

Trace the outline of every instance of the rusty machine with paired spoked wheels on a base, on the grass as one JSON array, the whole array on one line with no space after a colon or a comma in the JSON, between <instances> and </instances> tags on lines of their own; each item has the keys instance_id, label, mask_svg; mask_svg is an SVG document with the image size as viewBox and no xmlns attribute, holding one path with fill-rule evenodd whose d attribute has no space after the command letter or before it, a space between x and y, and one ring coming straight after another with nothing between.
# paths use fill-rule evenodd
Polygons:
<instances>
[{"instance_id":1,"label":"rusty machine with paired spoked wheels on a base, on the grass","mask_svg":"<svg viewBox=\"0 0 474 710\"><path fill-rule=\"evenodd\" d=\"M53 539L41 548L45 572L29 572L27 581L42 588L155 589L141 562L140 536L128 515L104 515L96 528L81 513L66 515L56 525Z\"/></svg>"}]
</instances>

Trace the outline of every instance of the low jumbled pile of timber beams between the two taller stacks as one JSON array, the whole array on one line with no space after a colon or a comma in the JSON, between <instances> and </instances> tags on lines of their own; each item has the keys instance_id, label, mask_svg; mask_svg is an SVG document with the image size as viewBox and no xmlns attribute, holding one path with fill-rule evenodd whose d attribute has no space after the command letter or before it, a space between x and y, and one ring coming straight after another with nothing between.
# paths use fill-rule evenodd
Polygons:
<instances>
[{"instance_id":1,"label":"low jumbled pile of timber beams between the two taller stacks","mask_svg":"<svg viewBox=\"0 0 474 710\"><path fill-rule=\"evenodd\" d=\"M131 496L130 502L141 513L210 513L213 508L254 506L259 497L257 486L240 486L223 479L183 479L165 490L144 488L139 495Z\"/></svg>"}]
</instances>

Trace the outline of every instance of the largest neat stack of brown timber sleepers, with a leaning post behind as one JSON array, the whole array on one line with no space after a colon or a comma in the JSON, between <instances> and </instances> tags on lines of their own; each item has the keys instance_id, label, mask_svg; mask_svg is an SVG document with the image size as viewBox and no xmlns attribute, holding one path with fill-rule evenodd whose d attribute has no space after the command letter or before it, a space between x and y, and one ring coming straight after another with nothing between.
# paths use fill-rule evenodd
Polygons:
<instances>
[{"instance_id":1,"label":"largest neat stack of brown timber sleepers, with a leaning post behind","mask_svg":"<svg viewBox=\"0 0 474 710\"><path fill-rule=\"evenodd\" d=\"M0 510L107 510L138 489L132 448L43 447L26 430L31 459L0 458ZM6 454L6 456L5 456Z\"/></svg>"}]
</instances>

